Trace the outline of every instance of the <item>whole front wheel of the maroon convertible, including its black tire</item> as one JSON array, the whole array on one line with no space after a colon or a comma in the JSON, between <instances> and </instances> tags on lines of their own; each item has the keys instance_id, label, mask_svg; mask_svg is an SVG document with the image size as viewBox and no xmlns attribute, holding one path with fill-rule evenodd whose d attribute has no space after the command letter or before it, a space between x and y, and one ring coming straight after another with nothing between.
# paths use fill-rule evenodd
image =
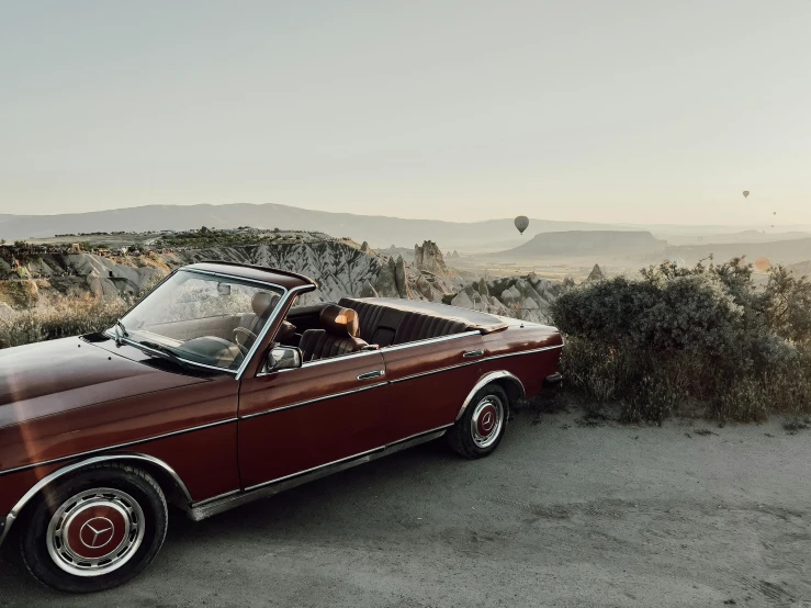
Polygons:
<instances>
[{"instance_id":1,"label":"whole front wheel of the maroon convertible, including its black tire","mask_svg":"<svg viewBox=\"0 0 811 608\"><path fill-rule=\"evenodd\" d=\"M140 573L164 544L169 519L158 483L122 464L59 480L31 507L20 522L25 565L41 583L76 594L117 587Z\"/></svg>"}]
</instances>

